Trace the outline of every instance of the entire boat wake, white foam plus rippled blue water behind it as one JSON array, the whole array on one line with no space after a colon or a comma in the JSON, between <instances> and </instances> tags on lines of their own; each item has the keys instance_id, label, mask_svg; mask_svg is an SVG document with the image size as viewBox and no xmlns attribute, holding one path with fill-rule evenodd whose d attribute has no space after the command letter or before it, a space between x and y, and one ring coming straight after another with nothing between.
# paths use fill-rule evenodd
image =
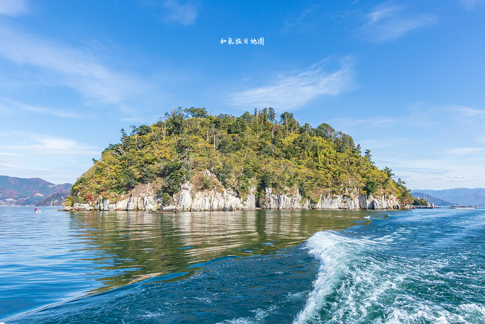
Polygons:
<instances>
[{"instance_id":1,"label":"entire boat wake, white foam plus rippled blue water behind it","mask_svg":"<svg viewBox=\"0 0 485 324\"><path fill-rule=\"evenodd\" d=\"M307 240L320 267L293 323L484 323L485 270L465 269L465 251L436 251L443 238L387 223L379 230L392 235L325 231Z\"/></svg>"}]
</instances>

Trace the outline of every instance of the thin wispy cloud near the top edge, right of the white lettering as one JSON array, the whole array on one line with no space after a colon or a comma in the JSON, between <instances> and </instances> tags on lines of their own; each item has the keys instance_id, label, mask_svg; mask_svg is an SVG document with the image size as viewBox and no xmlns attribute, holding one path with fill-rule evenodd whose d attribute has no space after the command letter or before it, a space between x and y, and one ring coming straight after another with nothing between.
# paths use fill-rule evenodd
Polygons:
<instances>
[{"instance_id":1,"label":"thin wispy cloud near the top edge, right of the white lettering","mask_svg":"<svg viewBox=\"0 0 485 324\"><path fill-rule=\"evenodd\" d=\"M436 16L428 14L409 15L405 7L389 2L374 7L366 18L367 22L361 33L364 38L377 43L395 40L412 30L434 23L437 19Z\"/></svg>"}]
</instances>

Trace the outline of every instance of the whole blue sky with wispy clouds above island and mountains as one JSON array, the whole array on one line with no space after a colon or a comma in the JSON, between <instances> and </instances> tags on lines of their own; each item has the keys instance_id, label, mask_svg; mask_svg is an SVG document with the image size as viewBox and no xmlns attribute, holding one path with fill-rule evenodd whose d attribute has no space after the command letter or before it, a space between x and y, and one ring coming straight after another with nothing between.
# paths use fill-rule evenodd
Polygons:
<instances>
[{"instance_id":1,"label":"whole blue sky with wispy clouds above island and mountains","mask_svg":"<svg viewBox=\"0 0 485 324\"><path fill-rule=\"evenodd\" d=\"M485 187L484 34L483 0L0 0L0 174L73 183L171 108L271 106L408 188Z\"/></svg>"}]
</instances>

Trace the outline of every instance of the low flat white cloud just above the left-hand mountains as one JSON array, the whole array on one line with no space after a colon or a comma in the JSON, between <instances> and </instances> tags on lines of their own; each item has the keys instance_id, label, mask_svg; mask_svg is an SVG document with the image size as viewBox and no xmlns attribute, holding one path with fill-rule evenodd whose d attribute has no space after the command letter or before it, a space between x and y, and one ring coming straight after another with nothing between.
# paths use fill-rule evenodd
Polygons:
<instances>
[{"instance_id":1,"label":"low flat white cloud just above the left-hand mountains","mask_svg":"<svg viewBox=\"0 0 485 324\"><path fill-rule=\"evenodd\" d=\"M27 145L3 146L3 149L23 151L29 155L98 155L97 147L78 143L72 139L44 136L38 134L28 135ZM23 155L23 154L22 154Z\"/></svg>"}]
</instances>

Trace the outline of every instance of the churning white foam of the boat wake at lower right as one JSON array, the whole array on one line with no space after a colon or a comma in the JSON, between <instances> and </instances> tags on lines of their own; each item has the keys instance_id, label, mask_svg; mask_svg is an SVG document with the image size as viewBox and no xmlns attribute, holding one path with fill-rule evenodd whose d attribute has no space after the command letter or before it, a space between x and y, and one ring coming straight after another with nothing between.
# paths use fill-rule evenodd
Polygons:
<instances>
[{"instance_id":1,"label":"churning white foam of the boat wake at lower right","mask_svg":"<svg viewBox=\"0 0 485 324\"><path fill-rule=\"evenodd\" d=\"M319 232L307 240L308 253L320 261L313 290L293 323L485 323L485 306L449 305L422 300L412 287L446 285L450 262L392 255L399 236L381 238Z\"/></svg>"}]
</instances>

